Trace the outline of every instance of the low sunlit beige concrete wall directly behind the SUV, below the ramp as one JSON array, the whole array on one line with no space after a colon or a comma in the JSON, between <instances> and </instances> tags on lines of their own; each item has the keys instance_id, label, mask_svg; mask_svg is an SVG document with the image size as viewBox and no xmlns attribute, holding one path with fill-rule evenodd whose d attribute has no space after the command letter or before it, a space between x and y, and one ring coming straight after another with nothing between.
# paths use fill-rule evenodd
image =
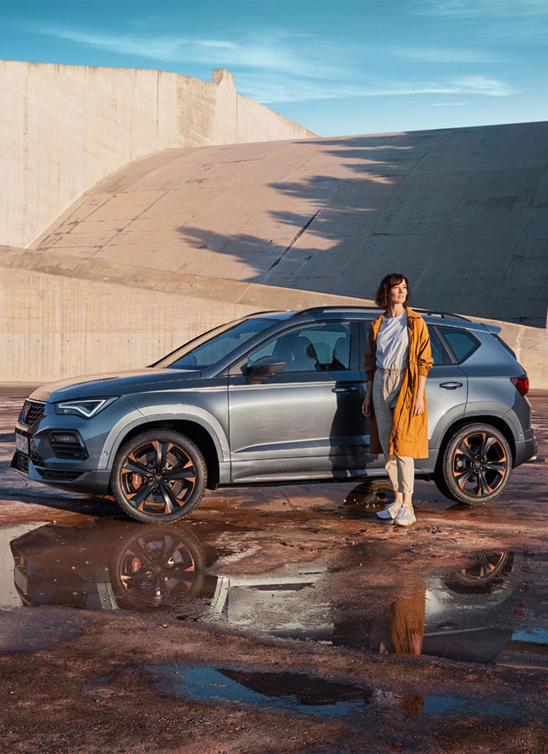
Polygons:
<instances>
[{"instance_id":1,"label":"low sunlit beige concrete wall directly behind the SUV, below the ramp","mask_svg":"<svg viewBox=\"0 0 548 754\"><path fill-rule=\"evenodd\" d=\"M251 311L372 303L0 247L0 382L50 382L146 366ZM483 321L502 326L531 388L548 389L548 331Z\"/></svg>"}]
</instances>

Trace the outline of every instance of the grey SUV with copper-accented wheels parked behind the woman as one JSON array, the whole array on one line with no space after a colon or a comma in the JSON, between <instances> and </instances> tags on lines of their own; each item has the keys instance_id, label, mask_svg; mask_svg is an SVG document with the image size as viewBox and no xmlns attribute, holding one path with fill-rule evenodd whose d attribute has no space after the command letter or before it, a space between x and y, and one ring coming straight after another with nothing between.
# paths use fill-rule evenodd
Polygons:
<instances>
[{"instance_id":1,"label":"grey SUV with copper-accented wheels parked behind the woman","mask_svg":"<svg viewBox=\"0 0 548 754\"><path fill-rule=\"evenodd\" d=\"M537 451L528 378L500 328L421 311L431 336L428 459L452 500L492 501ZM361 413L368 307L265 311L145 369L38 388L11 463L29 479L111 493L133 518L173 521L206 488L385 477Z\"/></svg>"}]
</instances>

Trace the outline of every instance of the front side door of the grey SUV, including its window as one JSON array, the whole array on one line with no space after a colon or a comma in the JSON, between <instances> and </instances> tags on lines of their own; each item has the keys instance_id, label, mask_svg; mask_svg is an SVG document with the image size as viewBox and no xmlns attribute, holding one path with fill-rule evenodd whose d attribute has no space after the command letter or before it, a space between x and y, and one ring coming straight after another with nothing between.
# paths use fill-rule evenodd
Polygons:
<instances>
[{"instance_id":1,"label":"front side door of the grey SUV, including its window","mask_svg":"<svg viewBox=\"0 0 548 754\"><path fill-rule=\"evenodd\" d=\"M233 482L355 475L363 400L357 336L348 320L300 324L233 365ZM251 384L246 366L264 356L279 357L284 372Z\"/></svg>"}]
</instances>

